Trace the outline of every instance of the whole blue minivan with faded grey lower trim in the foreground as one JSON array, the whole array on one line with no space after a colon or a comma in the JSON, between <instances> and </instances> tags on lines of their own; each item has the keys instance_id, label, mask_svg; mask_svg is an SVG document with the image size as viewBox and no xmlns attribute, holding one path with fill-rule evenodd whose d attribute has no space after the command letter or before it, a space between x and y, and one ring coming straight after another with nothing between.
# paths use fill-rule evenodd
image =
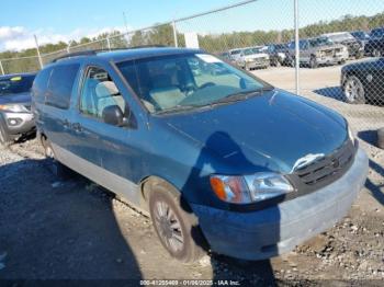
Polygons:
<instances>
[{"instance_id":1,"label":"whole blue minivan with faded grey lower trim in the foreground","mask_svg":"<svg viewBox=\"0 0 384 287\"><path fill-rule=\"evenodd\" d=\"M340 220L368 173L342 116L200 49L69 54L33 105L46 154L149 215L183 262L287 252Z\"/></svg>"}]
</instances>

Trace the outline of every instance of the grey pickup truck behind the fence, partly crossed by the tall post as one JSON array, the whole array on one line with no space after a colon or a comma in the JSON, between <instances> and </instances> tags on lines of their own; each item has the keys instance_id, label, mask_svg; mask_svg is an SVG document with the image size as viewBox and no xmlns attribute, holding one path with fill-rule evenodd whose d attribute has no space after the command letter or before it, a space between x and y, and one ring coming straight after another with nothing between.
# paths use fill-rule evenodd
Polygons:
<instances>
[{"instance_id":1,"label":"grey pickup truck behind the fence, partly crossed by the tall post","mask_svg":"<svg viewBox=\"0 0 384 287\"><path fill-rule=\"evenodd\" d=\"M334 44L327 37L316 37L301 39L300 45L300 62L307 65L309 68L317 68L319 65L343 64L348 59L348 49L340 44ZM294 66L295 43L289 45L287 61Z\"/></svg>"}]
</instances>

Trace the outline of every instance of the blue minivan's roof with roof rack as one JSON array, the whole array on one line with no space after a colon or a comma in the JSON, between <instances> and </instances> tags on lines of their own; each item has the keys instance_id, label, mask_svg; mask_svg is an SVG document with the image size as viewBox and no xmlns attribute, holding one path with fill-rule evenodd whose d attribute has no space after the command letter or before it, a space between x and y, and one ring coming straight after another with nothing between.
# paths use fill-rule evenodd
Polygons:
<instances>
[{"instance_id":1,"label":"blue minivan's roof with roof rack","mask_svg":"<svg viewBox=\"0 0 384 287\"><path fill-rule=\"evenodd\" d=\"M69 54L67 57L58 58L57 61L68 61L76 60L81 58L99 58L104 60L112 60L115 62L138 59L138 58L148 58L154 56L166 56L166 55L178 55L187 53L199 53L201 49L190 49L190 48L173 48L173 47L143 47L143 48L127 48L127 49L117 49L112 51L98 51L89 50L81 54Z\"/></svg>"}]
</instances>

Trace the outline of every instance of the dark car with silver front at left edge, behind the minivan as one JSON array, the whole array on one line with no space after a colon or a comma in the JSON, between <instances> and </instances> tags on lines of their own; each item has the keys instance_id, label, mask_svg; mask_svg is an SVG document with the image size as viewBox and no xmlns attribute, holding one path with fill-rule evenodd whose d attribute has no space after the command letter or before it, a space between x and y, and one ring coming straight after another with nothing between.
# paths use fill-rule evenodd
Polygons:
<instances>
[{"instance_id":1,"label":"dark car with silver front at left edge, behind the minivan","mask_svg":"<svg viewBox=\"0 0 384 287\"><path fill-rule=\"evenodd\" d=\"M31 88L34 73L0 77L0 145L34 133Z\"/></svg>"}]
</instances>

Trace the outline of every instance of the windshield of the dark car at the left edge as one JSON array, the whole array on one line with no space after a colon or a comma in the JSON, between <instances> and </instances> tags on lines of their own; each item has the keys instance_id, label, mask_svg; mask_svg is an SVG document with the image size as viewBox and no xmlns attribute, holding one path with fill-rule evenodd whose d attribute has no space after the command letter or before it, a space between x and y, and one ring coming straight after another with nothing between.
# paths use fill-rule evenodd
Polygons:
<instances>
[{"instance_id":1,"label":"windshield of the dark car at the left edge","mask_svg":"<svg viewBox=\"0 0 384 287\"><path fill-rule=\"evenodd\" d=\"M35 76L0 78L0 95L26 93L31 90Z\"/></svg>"}]
</instances>

